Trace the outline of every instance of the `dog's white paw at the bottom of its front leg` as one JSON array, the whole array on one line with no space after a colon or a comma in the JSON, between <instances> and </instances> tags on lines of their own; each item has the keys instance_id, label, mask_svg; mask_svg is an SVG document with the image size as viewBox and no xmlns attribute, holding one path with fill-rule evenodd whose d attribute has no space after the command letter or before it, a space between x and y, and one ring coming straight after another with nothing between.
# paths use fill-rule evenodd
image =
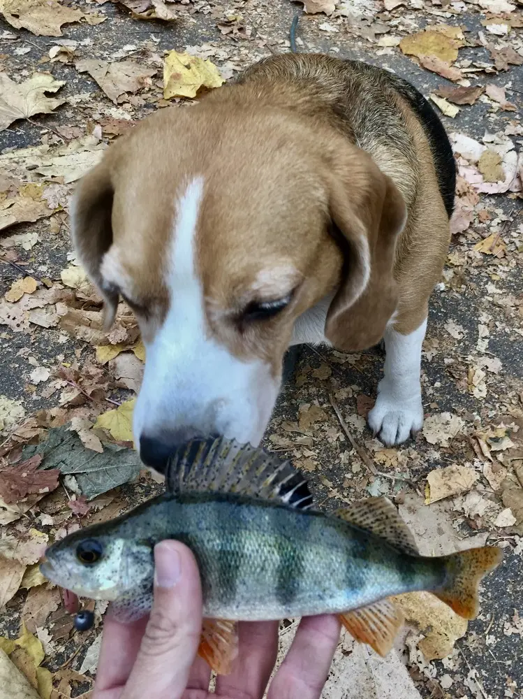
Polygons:
<instances>
[{"instance_id":1,"label":"dog's white paw at the bottom of its front leg","mask_svg":"<svg viewBox=\"0 0 523 699\"><path fill-rule=\"evenodd\" d=\"M374 408L369 412L369 426L388 447L401 444L423 425L421 396L400 399L381 382Z\"/></svg>"}]
</instances>

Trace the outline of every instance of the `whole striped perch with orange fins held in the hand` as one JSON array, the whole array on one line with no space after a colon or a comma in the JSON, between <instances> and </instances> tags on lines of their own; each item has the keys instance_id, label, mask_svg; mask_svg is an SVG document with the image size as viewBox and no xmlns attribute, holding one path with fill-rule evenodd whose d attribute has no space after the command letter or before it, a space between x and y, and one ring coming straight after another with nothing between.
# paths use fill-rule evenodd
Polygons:
<instances>
[{"instance_id":1,"label":"whole striped perch with orange fins held in the hand","mask_svg":"<svg viewBox=\"0 0 523 699\"><path fill-rule=\"evenodd\" d=\"M339 614L358 640L385 655L403 619L389 600L431 591L464 617L478 584L501 561L484 547L420 556L385 498L333 514L312 508L287 462L224 439L193 441L173 456L165 494L52 544L40 570L80 596L112 600L121 619L152 605L153 548L177 539L198 561L207 622L200 653L219 672L237 647L235 621Z\"/></svg>"}]
</instances>

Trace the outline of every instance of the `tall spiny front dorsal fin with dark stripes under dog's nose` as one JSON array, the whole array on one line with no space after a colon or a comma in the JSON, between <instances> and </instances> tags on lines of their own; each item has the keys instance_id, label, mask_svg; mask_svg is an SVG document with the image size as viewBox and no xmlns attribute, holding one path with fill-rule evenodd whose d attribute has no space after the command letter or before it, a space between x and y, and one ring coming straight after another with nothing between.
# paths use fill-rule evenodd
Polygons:
<instances>
[{"instance_id":1,"label":"tall spiny front dorsal fin with dark stripes under dog's nose","mask_svg":"<svg viewBox=\"0 0 523 699\"><path fill-rule=\"evenodd\" d=\"M225 438L193 440L172 455L165 472L171 493L235 493L279 500L306 510L307 481L288 461Z\"/></svg>"}]
</instances>

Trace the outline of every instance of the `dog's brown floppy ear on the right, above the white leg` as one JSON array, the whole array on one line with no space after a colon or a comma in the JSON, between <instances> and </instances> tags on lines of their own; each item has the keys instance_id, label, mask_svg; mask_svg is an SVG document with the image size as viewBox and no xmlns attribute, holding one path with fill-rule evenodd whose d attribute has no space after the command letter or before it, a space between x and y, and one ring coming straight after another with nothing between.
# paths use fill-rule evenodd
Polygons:
<instances>
[{"instance_id":1,"label":"dog's brown floppy ear on the right, above the white leg","mask_svg":"<svg viewBox=\"0 0 523 699\"><path fill-rule=\"evenodd\" d=\"M381 340L397 306L393 265L406 205L395 183L360 149L337 154L329 179L330 217L344 267L325 337L334 347L358 351Z\"/></svg>"}]
</instances>

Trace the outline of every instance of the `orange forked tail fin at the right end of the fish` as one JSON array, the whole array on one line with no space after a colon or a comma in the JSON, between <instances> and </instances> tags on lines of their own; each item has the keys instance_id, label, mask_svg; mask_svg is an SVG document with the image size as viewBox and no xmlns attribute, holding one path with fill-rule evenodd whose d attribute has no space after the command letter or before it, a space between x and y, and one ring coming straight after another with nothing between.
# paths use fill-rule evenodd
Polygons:
<instances>
[{"instance_id":1,"label":"orange forked tail fin at the right end of the fish","mask_svg":"<svg viewBox=\"0 0 523 699\"><path fill-rule=\"evenodd\" d=\"M447 572L443 586L434 595L464 619L474 619L478 614L478 588L484 575L496 568L503 558L503 550L497 546L460 551L444 556Z\"/></svg>"}]
</instances>

